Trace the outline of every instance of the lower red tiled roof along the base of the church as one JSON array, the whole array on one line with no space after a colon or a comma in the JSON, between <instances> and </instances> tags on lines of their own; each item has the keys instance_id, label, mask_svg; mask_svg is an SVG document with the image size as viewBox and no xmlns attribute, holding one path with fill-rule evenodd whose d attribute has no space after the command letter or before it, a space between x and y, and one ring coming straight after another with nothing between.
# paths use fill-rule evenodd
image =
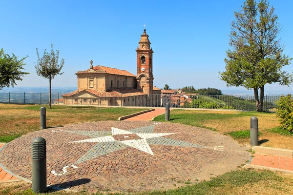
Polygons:
<instances>
[{"instance_id":1,"label":"lower red tiled roof along the base of the church","mask_svg":"<svg viewBox=\"0 0 293 195\"><path fill-rule=\"evenodd\" d=\"M74 92L70 92L68 94L64 94L62 97L70 97L70 96L73 96L73 95L78 94L83 91L89 92L95 96L103 97L103 98L146 95L145 93L143 93L137 89L134 89L134 88L128 88L128 89L121 88L121 89L112 89L112 90L109 90L108 92L98 92L98 91L91 90L91 89L84 89L82 91L74 91Z\"/></svg>"}]
</instances>

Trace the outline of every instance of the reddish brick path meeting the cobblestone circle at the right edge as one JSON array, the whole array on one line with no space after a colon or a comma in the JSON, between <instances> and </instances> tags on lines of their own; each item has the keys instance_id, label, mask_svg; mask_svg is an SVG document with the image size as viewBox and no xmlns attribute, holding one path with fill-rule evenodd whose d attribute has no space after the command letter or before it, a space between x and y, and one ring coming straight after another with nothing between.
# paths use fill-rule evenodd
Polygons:
<instances>
[{"instance_id":1,"label":"reddish brick path meeting the cobblestone circle at the right edge","mask_svg":"<svg viewBox=\"0 0 293 195\"><path fill-rule=\"evenodd\" d=\"M255 153L251 164L293 171L293 158L287 156Z\"/></svg>"}]
</instances>

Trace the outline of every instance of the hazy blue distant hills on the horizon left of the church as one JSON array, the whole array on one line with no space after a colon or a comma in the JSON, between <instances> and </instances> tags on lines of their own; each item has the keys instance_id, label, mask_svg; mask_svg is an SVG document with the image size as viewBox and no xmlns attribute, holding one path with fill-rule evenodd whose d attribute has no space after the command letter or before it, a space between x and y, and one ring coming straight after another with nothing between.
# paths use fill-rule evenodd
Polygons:
<instances>
[{"instance_id":1,"label":"hazy blue distant hills on the horizon left of the church","mask_svg":"<svg viewBox=\"0 0 293 195\"><path fill-rule=\"evenodd\" d=\"M65 94L77 90L77 87L52 87L52 93ZM10 87L3 88L0 93L49 93L49 87Z\"/></svg>"}]
</instances>

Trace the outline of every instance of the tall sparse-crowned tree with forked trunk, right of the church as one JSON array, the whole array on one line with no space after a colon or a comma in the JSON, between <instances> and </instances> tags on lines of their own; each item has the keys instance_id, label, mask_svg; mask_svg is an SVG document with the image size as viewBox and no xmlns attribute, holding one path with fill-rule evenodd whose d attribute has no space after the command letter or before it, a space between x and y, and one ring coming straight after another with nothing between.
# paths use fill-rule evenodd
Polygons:
<instances>
[{"instance_id":1,"label":"tall sparse-crowned tree with forked trunk, right of the church","mask_svg":"<svg viewBox=\"0 0 293 195\"><path fill-rule=\"evenodd\" d=\"M279 82L289 86L292 83L292 75L282 70L292 58L282 54L284 46L278 39L280 24L267 0L258 3L246 0L242 10L234 15L229 42L232 50L226 51L226 71L219 72L220 78L227 86L252 88L256 111L261 112L265 84Z\"/></svg>"}]
</instances>

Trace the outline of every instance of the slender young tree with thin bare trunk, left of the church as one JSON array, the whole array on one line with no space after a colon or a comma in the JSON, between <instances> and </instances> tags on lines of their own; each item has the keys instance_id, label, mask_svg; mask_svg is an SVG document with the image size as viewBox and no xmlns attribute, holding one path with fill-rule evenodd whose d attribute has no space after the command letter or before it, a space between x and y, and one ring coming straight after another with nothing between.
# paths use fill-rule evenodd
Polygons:
<instances>
[{"instance_id":1,"label":"slender young tree with thin bare trunk, left of the church","mask_svg":"<svg viewBox=\"0 0 293 195\"><path fill-rule=\"evenodd\" d=\"M56 50L56 53L53 49L53 44L51 44L51 53L46 52L43 53L43 57L40 58L39 51L37 48L37 56L38 61L35 66L37 74L40 77L49 79L49 108L51 109L51 80L55 78L56 75L62 75L61 69L64 65L64 59L61 59L60 64L58 64L59 60L59 50Z\"/></svg>"}]
</instances>

